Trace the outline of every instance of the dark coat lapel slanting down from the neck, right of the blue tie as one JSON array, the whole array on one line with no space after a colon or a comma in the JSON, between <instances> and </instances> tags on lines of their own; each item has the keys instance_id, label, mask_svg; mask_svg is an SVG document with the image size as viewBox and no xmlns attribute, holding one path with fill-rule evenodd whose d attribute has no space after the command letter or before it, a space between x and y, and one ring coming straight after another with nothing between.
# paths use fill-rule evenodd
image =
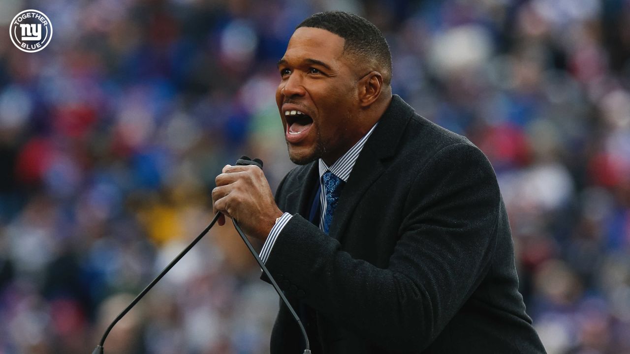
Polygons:
<instances>
[{"instance_id":1,"label":"dark coat lapel slanting down from the neck, right of the blue tie","mask_svg":"<svg viewBox=\"0 0 630 354\"><path fill-rule=\"evenodd\" d=\"M399 96L393 96L391 104L365 143L357 158L357 163L348 177L348 182L341 191L339 204L335 209L333 223L330 226L329 235L331 237L341 241L341 236L344 234L358 202L374 181L385 171L384 162L386 159L396 152L398 142L413 112L413 108Z\"/></svg>"}]
</instances>

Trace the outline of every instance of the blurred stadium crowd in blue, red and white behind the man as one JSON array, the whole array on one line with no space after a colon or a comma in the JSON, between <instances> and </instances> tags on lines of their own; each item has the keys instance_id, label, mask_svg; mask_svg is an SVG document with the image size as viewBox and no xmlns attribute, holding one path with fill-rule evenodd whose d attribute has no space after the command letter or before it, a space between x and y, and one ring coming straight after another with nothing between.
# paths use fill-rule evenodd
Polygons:
<instances>
[{"instance_id":1,"label":"blurred stadium crowd in blue, red and white behind the man","mask_svg":"<svg viewBox=\"0 0 630 354\"><path fill-rule=\"evenodd\" d=\"M54 27L36 54L8 35L31 8ZM326 9L379 26L394 93L490 158L549 353L630 353L629 0L0 0L0 354L91 353L241 154L275 188L275 62ZM259 273L216 227L106 353L268 352Z\"/></svg>"}]
</instances>

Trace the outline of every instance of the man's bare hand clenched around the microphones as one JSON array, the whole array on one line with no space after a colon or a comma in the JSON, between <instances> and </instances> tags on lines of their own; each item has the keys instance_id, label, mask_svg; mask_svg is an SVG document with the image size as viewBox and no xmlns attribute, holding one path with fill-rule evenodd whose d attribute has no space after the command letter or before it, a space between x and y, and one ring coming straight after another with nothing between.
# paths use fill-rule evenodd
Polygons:
<instances>
[{"instance_id":1,"label":"man's bare hand clenched around the microphones","mask_svg":"<svg viewBox=\"0 0 630 354\"><path fill-rule=\"evenodd\" d=\"M226 216L231 217L245 234L264 242L282 212L273 200L263 170L253 165L226 165L215 182L212 214L222 213L217 220L219 225L225 224Z\"/></svg>"}]
</instances>

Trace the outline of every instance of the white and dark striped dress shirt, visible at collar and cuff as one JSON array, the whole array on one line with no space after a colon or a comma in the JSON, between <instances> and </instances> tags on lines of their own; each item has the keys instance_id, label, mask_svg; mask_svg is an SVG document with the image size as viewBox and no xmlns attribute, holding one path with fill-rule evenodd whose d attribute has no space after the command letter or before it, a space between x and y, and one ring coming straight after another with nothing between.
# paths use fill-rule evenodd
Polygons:
<instances>
[{"instance_id":1,"label":"white and dark striped dress shirt, visible at collar and cuff","mask_svg":"<svg viewBox=\"0 0 630 354\"><path fill-rule=\"evenodd\" d=\"M352 172L352 168L357 162L357 157L360 154L361 150L363 150L363 146L367 139L374 132L374 128L378 125L378 123L374 124L374 127L370 129L367 134L364 135L360 140L358 140L357 144L350 148L343 156L341 156L333 166L328 167L326 163L324 163L323 159L319 159L319 185L321 186L321 192L319 193L319 229L324 231L324 215L326 215L326 190L324 190L324 184L322 181L322 176L326 171L331 171L331 173L335 174L335 176L339 177L342 181L347 182L348 177L350 177L350 172ZM273 244L275 243L278 235L284 229L284 226L289 222L293 215L285 212L281 217L278 218L275 225L273 225L272 230L269 232L269 236L267 237L265 244L263 244L263 249L260 251L260 259L266 263L269 258L269 254L272 251Z\"/></svg>"}]
</instances>

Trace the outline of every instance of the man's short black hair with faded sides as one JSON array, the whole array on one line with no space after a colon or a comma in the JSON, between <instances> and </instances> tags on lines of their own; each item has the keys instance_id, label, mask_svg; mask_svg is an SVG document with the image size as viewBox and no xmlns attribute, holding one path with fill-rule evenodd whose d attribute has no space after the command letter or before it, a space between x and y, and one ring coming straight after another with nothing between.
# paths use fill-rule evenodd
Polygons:
<instances>
[{"instance_id":1,"label":"man's short black hair with faded sides","mask_svg":"<svg viewBox=\"0 0 630 354\"><path fill-rule=\"evenodd\" d=\"M385 36L365 18L344 11L325 11L309 16L295 29L314 27L335 33L345 40L343 51L356 55L359 59L374 60L386 72L383 81L389 84L392 72L392 55Z\"/></svg>"}]
</instances>

